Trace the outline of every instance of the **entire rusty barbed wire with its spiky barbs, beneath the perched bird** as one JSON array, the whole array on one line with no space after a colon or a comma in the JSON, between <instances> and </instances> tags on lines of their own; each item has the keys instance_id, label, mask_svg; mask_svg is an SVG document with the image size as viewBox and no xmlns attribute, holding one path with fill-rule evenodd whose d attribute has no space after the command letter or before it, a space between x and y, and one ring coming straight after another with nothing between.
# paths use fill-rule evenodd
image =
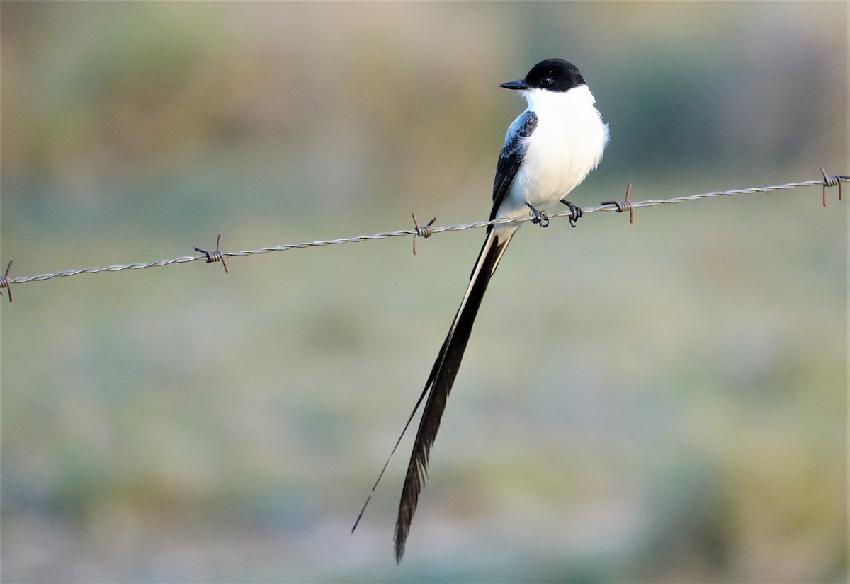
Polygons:
<instances>
[{"instance_id":1,"label":"entire rusty barbed wire with its spiky barbs, beneath the perched bird","mask_svg":"<svg viewBox=\"0 0 850 584\"><path fill-rule=\"evenodd\" d=\"M820 185L823 187L823 205L826 206L826 194L827 188L838 187L838 199L843 199L842 192L842 183L850 182L850 176L847 175L828 175L824 171L823 167L820 168L821 174L823 178L817 178L808 181L802 181L799 183L785 183L774 185L770 187L754 187L754 188L736 188L728 191L711 191L710 193L700 193L700 194L690 194L682 197L674 197L672 199L646 199L642 201L632 202L630 199L630 195L632 192L632 185L629 184L626 188L626 198L622 200L616 201L607 201L601 203L597 207L583 207L581 209L582 215L590 215L591 213L596 213L598 211L616 211L618 213L623 211L629 211L630 221L634 222L634 210L641 209L645 207L653 207L655 205L673 205L677 203L684 203L687 201L695 201L700 199L714 199L718 197L729 197L738 194L757 194L757 193L772 193L774 191L788 190L791 188L801 188L801 187L812 187L815 185ZM552 219L555 217L569 217L571 216L573 211L558 211L556 213L547 214L546 219ZM201 255L182 255L180 257L175 257L169 260L156 260L156 261L148 261L148 262L136 262L131 264L120 264L115 266L105 266L105 267L82 267L78 269L70 269L70 270L61 270L59 272L51 272L51 273L42 273L36 276L22 276L16 278L9 278L8 272L12 267L12 261L8 262L8 266L6 267L6 273L4 276L0 276L0 295L3 294L2 290L5 288L8 290L9 301L12 300L12 290L9 287L10 284L26 284L27 282L42 282L44 280L49 280L52 278L67 278L69 276L77 276L78 274L83 273L101 273L101 272L121 272L123 270L141 270L148 267L160 267L160 266L169 266L171 264L182 264L189 261L221 261L224 264L225 272L229 273L229 268L227 267L226 261L224 258L227 257L244 257L246 255L262 255L268 254L272 251L286 251L286 250L303 250L309 247L323 247L326 245L343 245L343 244L355 244L363 241L374 241L377 239L387 239L393 237L413 237L413 253L416 254L416 239L423 237L428 238L436 233L448 233L455 231L463 231L465 229L475 229L479 227L489 227L490 225L504 225L506 223L522 223L522 222L539 222L540 217L536 217L534 215L521 216L521 217L509 217L504 219L494 219L491 221L477 221L472 223L463 223L458 225L448 225L445 227L433 227L433 222L436 221L436 218L428 222L426 225L419 225L419 222L416 221L416 216L413 216L414 227L412 229L399 229L398 231L390 231L384 233L374 233L372 235L357 235L349 238L341 238L341 239L318 239L316 241L308 241L297 244L282 244L275 245L273 247L263 247L257 250L243 250L243 251L221 251L219 246L221 244L221 235L218 235L218 241L216 244L215 250L203 250L201 248L195 247L195 250L200 252Z\"/></svg>"}]
</instances>

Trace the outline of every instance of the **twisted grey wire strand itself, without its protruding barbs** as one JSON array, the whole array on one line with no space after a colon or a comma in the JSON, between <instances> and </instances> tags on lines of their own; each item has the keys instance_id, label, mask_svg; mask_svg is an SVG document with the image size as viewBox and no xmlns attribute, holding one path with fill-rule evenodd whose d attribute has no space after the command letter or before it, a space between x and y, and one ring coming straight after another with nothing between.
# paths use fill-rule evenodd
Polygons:
<instances>
[{"instance_id":1,"label":"twisted grey wire strand itself, without its protruding barbs","mask_svg":"<svg viewBox=\"0 0 850 584\"><path fill-rule=\"evenodd\" d=\"M737 194L756 194L756 193L771 193L774 191L787 190L791 188L799 188L799 187L812 187L815 185L819 185L821 187L832 187L839 185L841 183L850 182L850 176L844 175L825 175L823 178L817 178L809 181L802 181L801 183L786 183L779 184L770 187L754 187L754 188L736 188L728 191L711 191L710 193L700 193L700 194L691 194L683 197L674 197L673 199L646 199L643 201L635 201L631 202L632 208L638 209L643 207L653 207L655 205L672 205L676 203L684 203L686 201L694 201L700 199L714 199L717 197L729 197ZM608 205L600 205L597 207L583 207L582 211L584 211L584 215L589 215L590 213L595 213L597 211L618 211L620 207L615 204ZM558 211L556 213L549 214L550 218L554 217L563 217L570 216L571 211ZM457 225L448 225L445 227L432 227L428 225L428 235L424 235L422 233L422 226L414 227L412 229L399 229L398 231L390 231L385 233L374 233L372 235L357 235L349 238L341 238L341 239L318 239L316 241L308 241L297 244L282 244L275 245L273 247L263 247L257 250L243 250L243 251L221 251L218 252L223 258L224 257L244 257L246 255L262 255L268 254L272 251L286 251L286 250L303 250L309 247L324 247L326 245L343 245L343 244L356 244L363 241L374 241L377 239L387 239L392 237L410 237L411 235L415 236L423 236L428 237L430 235L435 235L437 233L446 233L446 232L454 232L454 231L463 231L465 229L475 229L479 227L488 227L490 225L502 225L505 223L522 223L531 221L534 219L534 216L521 216L521 217L509 217L505 219L494 219L492 221L477 221L472 223L463 223ZM43 273L38 274L36 276L23 276L16 278L5 278L6 285L8 284L26 284L27 282L41 282L43 280L49 280L51 278L67 278L68 276L77 276L77 274L83 273L101 273L101 272L121 272L123 270L141 270L147 267L160 267L160 266L169 266L171 264L182 264L188 261L208 261L209 256L207 254L202 255L182 255L180 257L175 257L170 260L156 260L149 262L136 262L132 264L120 264L115 266L106 266L106 267L82 267L78 269L71 270L61 270L59 272L52 273Z\"/></svg>"}]
</instances>

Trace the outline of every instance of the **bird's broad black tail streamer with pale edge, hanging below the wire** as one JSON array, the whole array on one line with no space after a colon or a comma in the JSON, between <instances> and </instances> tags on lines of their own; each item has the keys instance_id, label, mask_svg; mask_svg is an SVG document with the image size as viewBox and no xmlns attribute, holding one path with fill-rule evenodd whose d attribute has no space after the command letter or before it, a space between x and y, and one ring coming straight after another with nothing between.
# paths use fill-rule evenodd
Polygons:
<instances>
[{"instance_id":1,"label":"bird's broad black tail streamer with pale edge, hanging below the wire","mask_svg":"<svg viewBox=\"0 0 850 584\"><path fill-rule=\"evenodd\" d=\"M501 256L507 249L516 228L492 229L484 241L478 261L475 262L472 275L470 276L467 294L463 297L460 308L457 309L455 320L451 323L449 334L446 335L443 346L439 350L437 361L434 362L431 374L422 396L426 393L428 401L422 411L422 419L419 422L419 430L416 431L416 440L413 442L411 462L407 465L405 486L401 491L399 502L399 518L395 522L395 561L401 562L405 555L405 542L407 534L411 530L411 519L416 513L416 503L419 501L419 492L428 474L428 455L431 446L437 437L439 421L445 410L445 401L449 397L451 386L455 383L457 370L461 366L463 351L467 348L469 334L472 332L475 316L478 314L481 299L487 290L487 284L496 266L499 265ZM422 398L420 398L421 400ZM417 404L418 406L418 404ZM412 414L411 414L412 415Z\"/></svg>"}]
</instances>

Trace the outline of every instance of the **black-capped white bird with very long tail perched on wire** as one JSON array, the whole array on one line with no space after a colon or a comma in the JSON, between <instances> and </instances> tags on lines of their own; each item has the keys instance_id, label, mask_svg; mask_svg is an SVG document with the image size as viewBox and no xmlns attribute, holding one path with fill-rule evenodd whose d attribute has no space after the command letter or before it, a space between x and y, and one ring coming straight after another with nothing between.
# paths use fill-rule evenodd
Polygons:
<instances>
[{"instance_id":1,"label":"black-capped white bird with very long tail perched on wire","mask_svg":"<svg viewBox=\"0 0 850 584\"><path fill-rule=\"evenodd\" d=\"M528 107L507 128L496 165L490 220L524 216L530 210L535 216L533 222L546 227L547 214L538 211L537 207L560 201L570 206L570 223L575 227L581 209L564 197L596 168L609 138L608 124L593 107L596 100L587 83L569 61L547 59L535 65L524 79L508 81L500 87L519 91ZM446 398L461 366L475 315L487 284L517 229L519 223L487 227L487 239L470 275L467 293L439 350L425 389L407 420L410 424L416 409L428 396L401 492L395 524L396 562L400 562L405 553L411 519L428 472L428 454L439 430Z\"/></svg>"}]
</instances>

